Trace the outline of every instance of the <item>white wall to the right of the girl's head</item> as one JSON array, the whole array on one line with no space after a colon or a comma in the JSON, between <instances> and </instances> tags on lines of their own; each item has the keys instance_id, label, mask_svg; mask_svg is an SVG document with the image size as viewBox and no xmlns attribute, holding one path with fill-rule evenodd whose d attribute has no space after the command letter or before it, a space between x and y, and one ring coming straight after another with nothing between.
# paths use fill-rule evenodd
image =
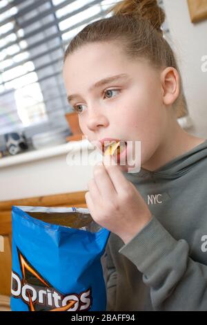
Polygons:
<instances>
[{"instance_id":1,"label":"white wall to the right of the girl's head","mask_svg":"<svg viewBox=\"0 0 207 325\"><path fill-rule=\"evenodd\" d=\"M188 132L207 138L207 71L201 71L201 57L207 55L207 19L191 23L187 0L164 0L164 6L193 120Z\"/></svg>"}]
</instances>

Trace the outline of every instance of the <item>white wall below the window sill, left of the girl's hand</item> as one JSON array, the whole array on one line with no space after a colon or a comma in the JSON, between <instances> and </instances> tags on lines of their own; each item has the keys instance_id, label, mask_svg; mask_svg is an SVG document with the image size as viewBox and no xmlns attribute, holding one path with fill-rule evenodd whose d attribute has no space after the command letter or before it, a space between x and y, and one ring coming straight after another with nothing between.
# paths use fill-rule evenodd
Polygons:
<instances>
[{"instance_id":1,"label":"white wall below the window sill, left of the girl's hand","mask_svg":"<svg viewBox=\"0 0 207 325\"><path fill-rule=\"evenodd\" d=\"M66 154L0 169L0 201L87 190L92 166L68 166Z\"/></svg>"}]
</instances>

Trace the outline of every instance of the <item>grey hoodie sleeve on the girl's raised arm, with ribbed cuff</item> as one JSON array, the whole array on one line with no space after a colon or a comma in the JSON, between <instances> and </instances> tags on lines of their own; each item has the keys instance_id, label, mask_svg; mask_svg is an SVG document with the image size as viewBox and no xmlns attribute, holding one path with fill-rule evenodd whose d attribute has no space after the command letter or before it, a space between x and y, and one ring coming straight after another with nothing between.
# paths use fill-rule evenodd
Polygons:
<instances>
[{"instance_id":1,"label":"grey hoodie sleeve on the girl's raised arm, with ribbed cuff","mask_svg":"<svg viewBox=\"0 0 207 325\"><path fill-rule=\"evenodd\" d=\"M188 243L155 216L119 253L143 273L154 310L207 310L207 266L190 259Z\"/></svg>"}]
</instances>

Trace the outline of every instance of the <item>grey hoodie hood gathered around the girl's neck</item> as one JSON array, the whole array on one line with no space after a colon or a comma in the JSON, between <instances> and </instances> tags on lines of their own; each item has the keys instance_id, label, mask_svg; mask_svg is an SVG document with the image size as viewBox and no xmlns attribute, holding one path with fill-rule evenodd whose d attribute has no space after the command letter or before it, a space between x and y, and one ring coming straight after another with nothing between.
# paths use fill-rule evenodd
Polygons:
<instances>
[{"instance_id":1,"label":"grey hoodie hood gathered around the girl's neck","mask_svg":"<svg viewBox=\"0 0 207 325\"><path fill-rule=\"evenodd\" d=\"M138 173L127 173L126 178L129 180L134 180L135 178L166 178L175 179L186 174L190 169L192 169L202 160L207 158L207 139L202 142L197 147L190 149L185 154L177 156L176 158L170 160L166 165L155 169L155 171L148 171L141 167Z\"/></svg>"}]
</instances>

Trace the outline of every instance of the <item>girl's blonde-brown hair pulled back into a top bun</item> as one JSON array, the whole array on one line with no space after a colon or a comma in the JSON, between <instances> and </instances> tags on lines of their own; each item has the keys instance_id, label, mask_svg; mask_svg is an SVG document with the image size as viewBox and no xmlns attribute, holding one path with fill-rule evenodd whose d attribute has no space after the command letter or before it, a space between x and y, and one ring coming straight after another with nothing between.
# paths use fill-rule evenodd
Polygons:
<instances>
[{"instance_id":1,"label":"girl's blonde-brown hair pulled back into a top bun","mask_svg":"<svg viewBox=\"0 0 207 325\"><path fill-rule=\"evenodd\" d=\"M79 32L68 45L64 62L84 44L101 41L115 41L122 44L122 50L129 59L143 57L155 68L172 66L180 76L180 93L173 104L176 106L183 97L181 75L177 60L170 44L164 39L161 25L165 21L165 12L158 6L157 0L124 0L112 6L108 11L112 17L92 22Z\"/></svg>"}]
</instances>

